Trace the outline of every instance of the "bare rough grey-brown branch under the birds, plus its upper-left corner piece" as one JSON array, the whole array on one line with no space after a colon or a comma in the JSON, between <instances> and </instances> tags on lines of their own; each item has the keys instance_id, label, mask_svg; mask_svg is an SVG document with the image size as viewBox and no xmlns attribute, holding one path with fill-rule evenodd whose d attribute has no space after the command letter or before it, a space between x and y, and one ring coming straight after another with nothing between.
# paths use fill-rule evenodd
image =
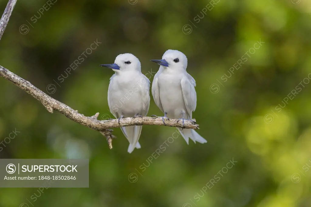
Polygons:
<instances>
[{"instance_id":1,"label":"bare rough grey-brown branch under the birds, plus its upper-left corner piece","mask_svg":"<svg viewBox=\"0 0 311 207\"><path fill-rule=\"evenodd\" d=\"M0 39L2 34L7 26L9 18L11 16L12 10L15 6L16 0L9 0L7 7L2 15L0 20ZM74 122L77 122L83 126L89 127L96 131L99 131L103 136L106 137L109 148L112 149L112 139L115 138L114 135L111 134L113 130L109 128L114 127L127 127L134 125L157 125L157 126L169 126L169 127L183 127L182 121L178 119L165 119L165 124L162 122L162 118L157 117L127 117L113 120L97 120L99 113L91 117L86 117L81 113L78 113L77 110L74 110L63 104L62 102L53 99L49 95L45 94L43 91L36 88L29 81L22 79L6 68L0 66L0 76L11 81L13 84L17 85L22 90L29 93L32 97L37 99L50 113L53 113L53 110L62 113L67 118L71 119ZM199 125L195 122L195 120L184 120L184 128L186 129L198 129Z\"/></svg>"}]
</instances>

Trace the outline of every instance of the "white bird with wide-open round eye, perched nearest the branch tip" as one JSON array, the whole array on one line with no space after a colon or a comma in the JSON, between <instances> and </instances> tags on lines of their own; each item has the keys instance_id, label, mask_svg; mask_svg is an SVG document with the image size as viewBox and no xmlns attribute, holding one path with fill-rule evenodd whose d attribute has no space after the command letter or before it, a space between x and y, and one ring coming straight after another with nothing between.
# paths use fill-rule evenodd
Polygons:
<instances>
[{"instance_id":1,"label":"white bird with wide-open round eye, perched nearest the branch tip","mask_svg":"<svg viewBox=\"0 0 311 207\"><path fill-rule=\"evenodd\" d=\"M167 50L162 60L151 60L160 65L152 81L152 96L156 105L164 113L165 118L191 119L192 112L197 106L197 93L195 91L196 82L187 73L187 57L178 50ZM162 121L164 122L164 117ZM165 124L165 122L164 122ZM189 138L194 143L206 143L193 129L178 128L180 134L189 144Z\"/></svg>"}]
</instances>

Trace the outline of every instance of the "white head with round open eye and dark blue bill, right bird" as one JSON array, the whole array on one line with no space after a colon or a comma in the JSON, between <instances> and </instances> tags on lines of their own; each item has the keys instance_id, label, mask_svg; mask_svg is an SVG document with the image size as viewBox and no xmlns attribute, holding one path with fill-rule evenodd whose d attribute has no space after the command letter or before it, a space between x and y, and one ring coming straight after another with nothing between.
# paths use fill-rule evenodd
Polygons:
<instances>
[{"instance_id":1,"label":"white head with round open eye and dark blue bill, right bird","mask_svg":"<svg viewBox=\"0 0 311 207\"><path fill-rule=\"evenodd\" d=\"M151 60L164 68L187 69L188 60L185 54L178 50L167 50L161 60Z\"/></svg>"}]
</instances>

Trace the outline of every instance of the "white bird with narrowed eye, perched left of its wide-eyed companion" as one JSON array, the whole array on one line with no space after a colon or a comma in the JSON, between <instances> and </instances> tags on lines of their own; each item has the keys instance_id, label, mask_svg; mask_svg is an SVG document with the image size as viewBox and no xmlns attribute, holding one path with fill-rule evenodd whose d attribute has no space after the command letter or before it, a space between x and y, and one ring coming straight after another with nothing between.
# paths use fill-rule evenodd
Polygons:
<instances>
[{"instance_id":1,"label":"white bird with narrowed eye, perched left of its wide-eyed companion","mask_svg":"<svg viewBox=\"0 0 311 207\"><path fill-rule=\"evenodd\" d=\"M141 64L133 54L125 53L116 57L114 64L103 64L115 73L110 78L108 88L108 105L114 117L142 117L146 116L150 103L150 81L142 74ZM138 142L142 126L121 127L128 139L128 153L135 147L140 149Z\"/></svg>"}]
</instances>

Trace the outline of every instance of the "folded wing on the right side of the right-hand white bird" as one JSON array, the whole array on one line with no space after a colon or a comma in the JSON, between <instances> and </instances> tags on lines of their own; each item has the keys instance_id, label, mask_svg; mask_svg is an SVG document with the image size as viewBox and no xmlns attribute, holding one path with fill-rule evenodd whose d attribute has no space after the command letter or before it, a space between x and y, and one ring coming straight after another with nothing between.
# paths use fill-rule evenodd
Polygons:
<instances>
[{"instance_id":1,"label":"folded wing on the right side of the right-hand white bird","mask_svg":"<svg viewBox=\"0 0 311 207\"><path fill-rule=\"evenodd\" d=\"M195 80L191 75L187 73L187 76L184 76L181 81L181 90L183 93L183 100L188 112L189 117L192 118L192 112L197 107L197 93L195 91Z\"/></svg>"}]
</instances>

